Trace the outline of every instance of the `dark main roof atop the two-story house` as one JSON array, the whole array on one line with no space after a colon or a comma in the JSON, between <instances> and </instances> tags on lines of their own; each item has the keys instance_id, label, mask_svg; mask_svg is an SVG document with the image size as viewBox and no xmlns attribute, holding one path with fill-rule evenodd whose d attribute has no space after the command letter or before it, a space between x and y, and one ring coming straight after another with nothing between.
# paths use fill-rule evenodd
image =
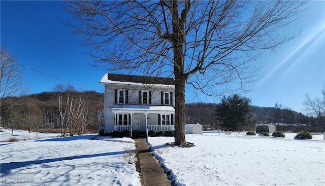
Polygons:
<instances>
[{"instance_id":1,"label":"dark main roof atop the two-story house","mask_svg":"<svg viewBox=\"0 0 325 186\"><path fill-rule=\"evenodd\" d=\"M173 78L119 75L119 74L116 74L116 73L108 73L107 74L107 79L111 80L111 81L118 81L118 82L175 85L175 80Z\"/></svg>"}]
</instances>

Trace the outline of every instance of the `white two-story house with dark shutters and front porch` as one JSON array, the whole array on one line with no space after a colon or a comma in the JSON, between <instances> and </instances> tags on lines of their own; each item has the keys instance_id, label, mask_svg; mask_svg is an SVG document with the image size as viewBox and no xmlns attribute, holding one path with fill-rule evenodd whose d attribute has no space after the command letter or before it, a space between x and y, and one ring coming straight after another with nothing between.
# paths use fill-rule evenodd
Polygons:
<instances>
[{"instance_id":1,"label":"white two-story house with dark shutters and front porch","mask_svg":"<svg viewBox=\"0 0 325 186\"><path fill-rule=\"evenodd\" d=\"M100 134L113 131L174 131L175 80L105 73Z\"/></svg>"}]
</instances>

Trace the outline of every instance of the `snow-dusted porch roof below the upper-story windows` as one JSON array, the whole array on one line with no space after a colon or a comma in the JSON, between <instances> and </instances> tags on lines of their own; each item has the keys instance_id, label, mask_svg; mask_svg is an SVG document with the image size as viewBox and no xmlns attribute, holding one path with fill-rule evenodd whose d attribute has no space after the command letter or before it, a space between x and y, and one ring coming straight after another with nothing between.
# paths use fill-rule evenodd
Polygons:
<instances>
[{"instance_id":1,"label":"snow-dusted porch roof below the upper-story windows","mask_svg":"<svg viewBox=\"0 0 325 186\"><path fill-rule=\"evenodd\" d=\"M114 104L112 111L153 111L153 112L175 112L173 106L164 105L131 105L131 104Z\"/></svg>"}]
</instances>

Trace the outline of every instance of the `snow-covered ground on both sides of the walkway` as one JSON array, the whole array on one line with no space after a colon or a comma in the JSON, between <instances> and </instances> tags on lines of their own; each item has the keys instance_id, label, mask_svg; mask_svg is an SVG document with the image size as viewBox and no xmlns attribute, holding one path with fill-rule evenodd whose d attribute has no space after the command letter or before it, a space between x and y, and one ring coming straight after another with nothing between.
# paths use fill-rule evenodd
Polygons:
<instances>
[{"instance_id":1,"label":"snow-covered ground on both sides of the walkway","mask_svg":"<svg viewBox=\"0 0 325 186\"><path fill-rule=\"evenodd\" d=\"M11 130L2 129L1 141ZM122 158L134 149L131 138L96 135L54 137L14 131L19 142L1 142L1 184L23 185L141 185L135 165ZM147 140L175 185L325 185L325 140L226 135L186 134L194 147L166 145L173 137ZM96 137L101 140L89 140Z\"/></svg>"}]
</instances>

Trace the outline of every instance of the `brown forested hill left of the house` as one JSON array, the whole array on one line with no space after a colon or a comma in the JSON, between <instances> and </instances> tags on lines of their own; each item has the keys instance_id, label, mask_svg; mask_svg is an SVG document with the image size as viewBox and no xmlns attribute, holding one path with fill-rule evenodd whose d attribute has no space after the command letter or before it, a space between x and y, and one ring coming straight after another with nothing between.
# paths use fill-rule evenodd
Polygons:
<instances>
[{"instance_id":1,"label":"brown forested hill left of the house","mask_svg":"<svg viewBox=\"0 0 325 186\"><path fill-rule=\"evenodd\" d=\"M62 113L69 109L71 102L78 109L80 102L89 122L87 128L98 129L99 111L104 110L104 93L95 91L54 91L30 94L22 97L8 97L2 105L2 126L15 125L16 129L60 128L59 95L61 95ZM66 107L69 97L69 106ZM13 106L12 101L15 99ZM8 109L8 106L10 106ZM24 116L24 117L19 117ZM11 121L15 121L14 123ZM30 126L30 125L35 126ZM8 125L8 126L7 126Z\"/></svg>"}]
</instances>

